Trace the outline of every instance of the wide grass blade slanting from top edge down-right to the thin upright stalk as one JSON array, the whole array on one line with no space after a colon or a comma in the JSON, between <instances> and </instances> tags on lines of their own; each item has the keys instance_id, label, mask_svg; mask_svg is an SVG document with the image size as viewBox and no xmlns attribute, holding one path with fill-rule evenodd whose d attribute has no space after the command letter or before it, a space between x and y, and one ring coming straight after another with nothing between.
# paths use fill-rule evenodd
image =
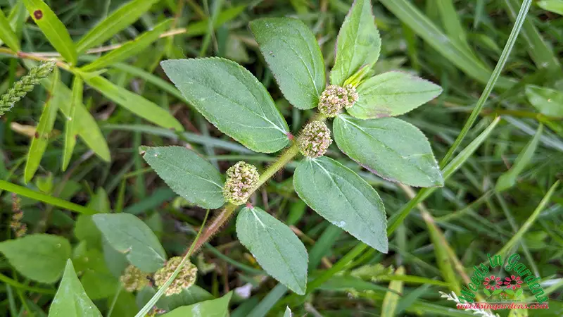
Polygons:
<instances>
[{"instance_id":1,"label":"wide grass blade slanting from top edge down-right to the thin upright stalk","mask_svg":"<svg viewBox=\"0 0 563 317\"><path fill-rule=\"evenodd\" d=\"M452 41L432 21L422 14L414 4L407 0L381 0L389 11L408 25L419 37L422 37L433 49L444 56L448 61L460 68L469 77L486 83L491 76L491 70L467 54L463 47ZM500 78L498 86L508 89L513 84L506 78Z\"/></svg>"}]
</instances>

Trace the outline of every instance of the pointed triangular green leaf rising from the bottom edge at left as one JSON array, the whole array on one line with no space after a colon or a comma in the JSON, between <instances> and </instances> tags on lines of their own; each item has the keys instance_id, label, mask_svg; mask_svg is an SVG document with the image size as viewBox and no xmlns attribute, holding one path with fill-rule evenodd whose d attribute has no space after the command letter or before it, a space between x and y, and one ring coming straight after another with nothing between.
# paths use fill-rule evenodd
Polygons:
<instances>
[{"instance_id":1,"label":"pointed triangular green leaf rising from the bottom edge at left","mask_svg":"<svg viewBox=\"0 0 563 317\"><path fill-rule=\"evenodd\" d=\"M49 317L101 317L96 305L84 292L70 259L66 261L65 274L49 308Z\"/></svg>"}]
</instances>

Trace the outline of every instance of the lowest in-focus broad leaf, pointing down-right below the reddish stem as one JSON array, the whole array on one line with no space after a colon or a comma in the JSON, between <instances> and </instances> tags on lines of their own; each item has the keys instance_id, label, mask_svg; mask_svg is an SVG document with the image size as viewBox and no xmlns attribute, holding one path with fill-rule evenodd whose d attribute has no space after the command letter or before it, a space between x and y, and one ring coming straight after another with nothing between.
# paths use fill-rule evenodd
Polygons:
<instances>
[{"instance_id":1,"label":"lowest in-focus broad leaf, pointing down-right below the reddish stem","mask_svg":"<svg viewBox=\"0 0 563 317\"><path fill-rule=\"evenodd\" d=\"M258 207L244 208L236 217L236 235L268 274L305 294L307 250L288 226Z\"/></svg>"}]
</instances>

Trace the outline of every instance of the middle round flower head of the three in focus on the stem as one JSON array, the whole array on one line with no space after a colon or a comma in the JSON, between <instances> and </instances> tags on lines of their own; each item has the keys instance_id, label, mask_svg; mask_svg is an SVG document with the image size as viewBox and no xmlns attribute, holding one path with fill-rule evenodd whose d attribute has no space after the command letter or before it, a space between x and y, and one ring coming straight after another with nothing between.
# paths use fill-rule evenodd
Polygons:
<instances>
[{"instance_id":1,"label":"middle round flower head of the three in focus on the stem","mask_svg":"<svg viewBox=\"0 0 563 317\"><path fill-rule=\"evenodd\" d=\"M298 139L299 151L310 158L323 156L331 143L330 130L322 121L305 125Z\"/></svg>"}]
</instances>

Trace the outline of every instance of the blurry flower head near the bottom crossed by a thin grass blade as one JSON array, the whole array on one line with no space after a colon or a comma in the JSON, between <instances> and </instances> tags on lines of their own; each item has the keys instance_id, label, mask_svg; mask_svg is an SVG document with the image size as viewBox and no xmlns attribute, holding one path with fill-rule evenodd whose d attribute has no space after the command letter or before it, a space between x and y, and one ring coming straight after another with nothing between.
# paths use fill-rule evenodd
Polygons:
<instances>
[{"instance_id":1,"label":"blurry flower head near the bottom crossed by a thin grass blade","mask_svg":"<svg viewBox=\"0 0 563 317\"><path fill-rule=\"evenodd\" d=\"M172 273L174 273L180 262L182 262L182 256L175 256L168 259L166 265L163 268L159 268L158 271L154 273L153 278L156 286L162 287L170 276L172 276ZM167 296L181 293L182 290L194 285L197 273L198 268L191 262L186 261L176 278L172 281L172 284L170 284L164 293Z\"/></svg>"}]
</instances>

